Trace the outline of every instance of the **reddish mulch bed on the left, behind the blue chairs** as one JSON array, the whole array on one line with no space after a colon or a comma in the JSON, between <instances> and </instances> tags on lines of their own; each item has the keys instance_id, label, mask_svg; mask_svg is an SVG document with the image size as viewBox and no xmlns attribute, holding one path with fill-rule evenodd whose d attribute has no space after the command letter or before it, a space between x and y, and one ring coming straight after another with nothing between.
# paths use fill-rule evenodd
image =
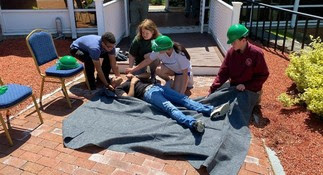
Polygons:
<instances>
[{"instance_id":1,"label":"reddish mulch bed on the left, behind the blue chairs","mask_svg":"<svg viewBox=\"0 0 323 175\"><path fill-rule=\"evenodd\" d=\"M55 40L58 55L68 55L69 46L72 40ZM53 60L41 66L44 72L48 67L54 65ZM17 83L28 85L32 88L36 98L40 96L41 76L36 69L34 60L29 52L24 38L8 39L0 42L0 78L4 83ZM69 78L66 82L73 78ZM57 81L58 79L47 79ZM48 94L61 87L60 83L45 82L43 95ZM63 97L63 93L62 93ZM31 98L10 109L10 114L14 115L18 111L26 108L32 103Z\"/></svg>"}]
</instances>

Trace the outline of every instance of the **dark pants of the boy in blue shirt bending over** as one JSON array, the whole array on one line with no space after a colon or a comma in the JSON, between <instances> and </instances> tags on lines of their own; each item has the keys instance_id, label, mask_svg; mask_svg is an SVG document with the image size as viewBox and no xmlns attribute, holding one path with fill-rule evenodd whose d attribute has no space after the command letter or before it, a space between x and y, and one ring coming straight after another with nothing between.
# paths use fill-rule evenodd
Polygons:
<instances>
[{"instance_id":1,"label":"dark pants of the boy in blue shirt bending over","mask_svg":"<svg viewBox=\"0 0 323 175\"><path fill-rule=\"evenodd\" d=\"M86 72L87 80L90 84L90 88L91 90L95 90L96 89L95 77L94 77L95 67L94 67L92 58L89 56L89 53L79 49L71 49L70 53L73 57L77 58L78 60L84 63L85 72ZM102 67L102 71L105 76L105 79L108 81L108 83L111 83L109 79L109 74L111 71L109 54L108 53L101 54L100 58L103 58L103 63L101 67Z\"/></svg>"}]
</instances>

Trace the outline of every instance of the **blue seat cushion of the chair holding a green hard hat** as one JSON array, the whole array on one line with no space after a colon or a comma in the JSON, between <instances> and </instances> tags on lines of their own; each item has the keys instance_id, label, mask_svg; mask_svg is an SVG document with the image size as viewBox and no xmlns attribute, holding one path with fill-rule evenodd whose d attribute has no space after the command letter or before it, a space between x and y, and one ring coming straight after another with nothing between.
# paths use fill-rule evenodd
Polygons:
<instances>
[{"instance_id":1,"label":"blue seat cushion of the chair holding a green hard hat","mask_svg":"<svg viewBox=\"0 0 323 175\"><path fill-rule=\"evenodd\" d=\"M70 77L73 75L78 74L79 72L81 72L83 70L83 64L80 64L79 67L75 68L75 69L68 69L68 70L57 70L56 69L56 65L49 67L45 73L47 76L52 76L52 77Z\"/></svg>"}]
</instances>

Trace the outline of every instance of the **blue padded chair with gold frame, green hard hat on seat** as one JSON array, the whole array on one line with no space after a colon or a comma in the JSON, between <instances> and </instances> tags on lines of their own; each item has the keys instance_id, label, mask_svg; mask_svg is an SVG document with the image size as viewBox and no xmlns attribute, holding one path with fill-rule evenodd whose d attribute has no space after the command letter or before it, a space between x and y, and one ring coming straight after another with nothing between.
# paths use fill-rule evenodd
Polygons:
<instances>
[{"instance_id":1,"label":"blue padded chair with gold frame, green hard hat on seat","mask_svg":"<svg viewBox=\"0 0 323 175\"><path fill-rule=\"evenodd\" d=\"M69 69L69 70L57 70L56 65L53 65L49 67L45 72L41 72L40 70L41 65L59 58L53 42L52 35L45 30L35 29L26 37L26 42L31 55L34 58L37 71L42 77L40 97L39 97L40 105L42 106L44 82L46 81L47 77L50 77L50 78L59 79L59 82L54 81L54 83L61 83L63 94L67 100L68 106L71 108L72 105L66 90L65 79L72 77L80 73L81 71L83 71L86 79L86 85L90 89L83 64L80 64L80 66L75 69ZM46 81L46 82L53 82L53 81Z\"/></svg>"}]
</instances>

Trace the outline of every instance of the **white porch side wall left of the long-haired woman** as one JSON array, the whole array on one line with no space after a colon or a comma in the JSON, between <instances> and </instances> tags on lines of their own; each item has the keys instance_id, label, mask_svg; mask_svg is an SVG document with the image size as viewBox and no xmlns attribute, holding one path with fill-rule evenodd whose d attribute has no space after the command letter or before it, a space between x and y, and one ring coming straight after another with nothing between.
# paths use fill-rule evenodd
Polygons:
<instances>
[{"instance_id":1,"label":"white porch side wall left of the long-haired woman","mask_svg":"<svg viewBox=\"0 0 323 175\"><path fill-rule=\"evenodd\" d=\"M124 0L114 0L103 5L104 30L112 32L121 41L126 34Z\"/></svg>"}]
</instances>

